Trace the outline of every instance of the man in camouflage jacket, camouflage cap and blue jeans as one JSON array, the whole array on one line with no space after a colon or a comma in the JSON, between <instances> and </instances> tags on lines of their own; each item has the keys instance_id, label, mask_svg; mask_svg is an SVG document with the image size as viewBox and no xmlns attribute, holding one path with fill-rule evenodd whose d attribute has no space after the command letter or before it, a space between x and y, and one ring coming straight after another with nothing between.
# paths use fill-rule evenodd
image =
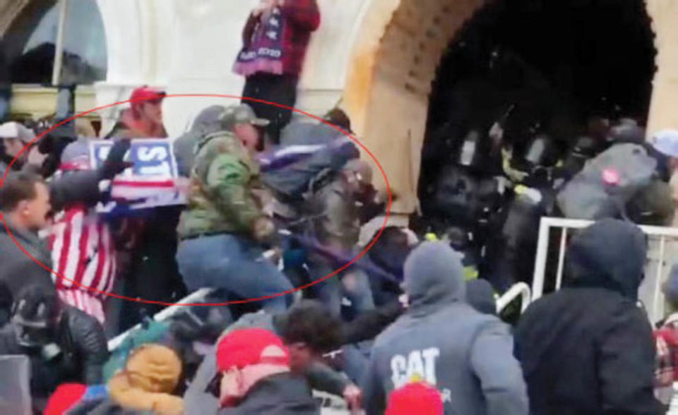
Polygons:
<instances>
[{"instance_id":1,"label":"man in camouflage jacket, camouflage cap and blue jeans","mask_svg":"<svg viewBox=\"0 0 678 415\"><path fill-rule=\"evenodd\" d=\"M252 157L260 130L268 124L245 104L228 107L223 131L198 141L191 171L189 206L179 222L177 261L190 291L216 287L244 299L292 289L287 278L266 258L261 243L275 228L256 197L258 165ZM263 302L281 312L284 295Z\"/></svg>"}]
</instances>

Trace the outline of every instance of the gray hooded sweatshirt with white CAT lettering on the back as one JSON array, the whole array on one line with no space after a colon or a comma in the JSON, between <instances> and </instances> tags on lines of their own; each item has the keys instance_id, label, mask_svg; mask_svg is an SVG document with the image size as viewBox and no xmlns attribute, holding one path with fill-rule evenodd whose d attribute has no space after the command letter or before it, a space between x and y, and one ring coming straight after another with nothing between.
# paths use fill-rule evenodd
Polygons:
<instances>
[{"instance_id":1,"label":"gray hooded sweatshirt with white CAT lettering on the back","mask_svg":"<svg viewBox=\"0 0 678 415\"><path fill-rule=\"evenodd\" d=\"M525 415L528 398L509 327L465 301L461 257L423 243L405 261L408 311L377 337L363 387L367 414L412 380L441 392L446 414Z\"/></svg>"}]
</instances>

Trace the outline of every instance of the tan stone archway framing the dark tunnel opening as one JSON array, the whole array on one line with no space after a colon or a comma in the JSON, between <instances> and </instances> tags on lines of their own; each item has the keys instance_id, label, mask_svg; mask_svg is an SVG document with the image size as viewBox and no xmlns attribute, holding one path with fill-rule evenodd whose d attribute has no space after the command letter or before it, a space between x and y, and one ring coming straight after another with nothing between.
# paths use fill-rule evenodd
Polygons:
<instances>
[{"instance_id":1,"label":"tan stone archway framing the dark tunnel opening","mask_svg":"<svg viewBox=\"0 0 678 415\"><path fill-rule=\"evenodd\" d=\"M678 129L678 2L645 0L658 50L648 137ZM485 0L372 0L347 71L343 107L400 196L416 210L429 93L448 42ZM375 177L380 178L376 174ZM383 185L383 184L382 184Z\"/></svg>"}]
</instances>

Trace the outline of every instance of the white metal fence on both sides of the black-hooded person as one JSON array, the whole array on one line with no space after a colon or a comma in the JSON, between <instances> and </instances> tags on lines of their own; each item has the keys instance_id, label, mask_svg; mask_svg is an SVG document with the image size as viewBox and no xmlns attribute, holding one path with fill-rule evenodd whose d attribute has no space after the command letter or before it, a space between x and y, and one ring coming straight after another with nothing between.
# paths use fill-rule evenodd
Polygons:
<instances>
[{"instance_id":1,"label":"white metal fence on both sides of the black-hooded person","mask_svg":"<svg viewBox=\"0 0 678 415\"><path fill-rule=\"evenodd\" d=\"M592 221L579 219L562 219L557 217L542 217L539 228L539 241L535 257L535 272L532 283L532 300L539 299L544 294L547 281L547 261L549 255L549 241L552 229L561 229L559 250L555 274L555 290L559 290L563 282L564 254L568 235L576 229L583 229L593 224ZM664 296L661 284L670 271L671 265L678 262L678 228L641 226L648 236L648 259L646 263L646 278L641 284L638 297L648 307L650 320L656 322L663 318Z\"/></svg>"}]
</instances>

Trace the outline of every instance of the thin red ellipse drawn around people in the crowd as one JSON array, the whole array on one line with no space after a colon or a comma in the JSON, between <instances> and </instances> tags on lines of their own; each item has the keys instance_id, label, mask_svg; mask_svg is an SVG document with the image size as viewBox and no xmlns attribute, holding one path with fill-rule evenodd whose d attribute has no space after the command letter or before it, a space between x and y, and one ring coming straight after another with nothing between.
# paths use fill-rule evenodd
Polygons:
<instances>
[{"instance_id":1,"label":"thin red ellipse drawn around people in the crowd","mask_svg":"<svg viewBox=\"0 0 678 415\"><path fill-rule=\"evenodd\" d=\"M377 160L377 158L374 157L374 155L372 154L372 152L369 151L369 149L368 149L367 147L365 147L364 144L360 143L360 141L359 141L357 138L355 138L354 136L352 136L350 133L348 133L347 131L344 131L342 128L339 128L338 126L334 126L333 124L329 124L328 121L325 121L324 119L320 118L319 116L315 116L315 115L313 115L313 114L309 114L309 113L304 112L304 111L302 111L301 109L297 109L297 108L295 108L295 107L288 107L287 105L278 104L277 102L269 102L269 101L265 101L265 100L258 100L258 99L256 99L256 98L238 97L238 96L236 96L236 95L221 95L221 94L174 94L174 95L165 95L165 98L172 98L172 97L174 97L174 98L177 98L177 97L184 97L184 98L188 98L188 97L194 97L194 98L195 98L195 97L219 97L219 98L232 98L232 99L234 99L234 100L246 100L246 101L251 101L251 102L260 102L260 103L262 103L262 104L268 104L268 105L273 105L273 106L275 106L275 107L280 107L280 108L284 108L284 109L289 109L289 110L291 110L291 111L293 111L293 112L297 112L297 113L299 113L299 114L303 114L303 115L305 115L305 116L309 116L309 117L311 117L312 119L316 119L317 121L321 121L323 124L326 124L326 125L328 125L328 126L331 126L332 128L334 128L335 130L339 131L340 133L343 133L343 135L345 135L345 136L347 136L348 138L350 138L351 140L353 140L357 145L360 146L360 148L362 148L362 150L363 150L364 152L366 152L366 153L369 155L369 157L372 158L372 160L374 160L374 162L376 163L376 166L379 167L379 171L381 172L381 174L382 174L382 176L383 176L383 179L384 179L384 181L385 181L385 183L386 183L386 192L388 193L388 207L386 208L386 217L385 217L384 220L383 220L383 224L381 225L381 228L379 228L379 233L376 234L376 236L374 236L374 238L373 238L373 239L370 241L370 243L364 248L364 250L361 251L360 253L358 253L358 254L355 256L355 258L353 258L352 260L350 260L350 262L346 263L345 265L342 265L341 267L339 267L338 269L334 270L333 272L330 272L328 275L326 275L326 276L324 276L324 277L322 277L322 278L320 278L320 279L316 279L314 282L311 282L311 283L306 284L306 285L302 285L301 287L295 287L295 288L293 288L293 289L290 289L290 290L287 290L287 291L283 291L283 292L280 292L280 293L277 293L277 294L270 294L270 295L268 295L268 296L256 297L256 298L254 298L254 299L242 299L242 300L227 301L227 302L225 302L225 303L167 303L167 302L165 302L165 301L152 301L152 300L145 300L145 299L133 299L133 298L128 297L128 296L122 296L122 295L114 294L114 293L108 292L108 291L101 291L101 290L95 289L95 288L93 288L93 287L84 287L83 284L81 284L81 283L79 283L79 282L76 282L76 281L73 281L72 279L66 278L66 277L64 277L64 275L60 275L60 274L57 273L57 272L54 272L54 270L52 270L51 268L47 267L46 265L44 265L43 263L41 263L39 260L35 259L35 257L33 257L33 255L31 255L30 253L28 253L28 251L26 251L26 250L23 248L23 246L21 246L20 243L18 243L18 241L16 240L16 238L15 238L14 235L12 234L11 230L10 230L9 227L7 226L7 221L6 221L5 217L4 217L4 214L3 214L2 212L0 212L0 219L2 220L2 222L3 222L4 226L5 226L5 229L6 229L6 231L7 231L7 234L10 236L10 238L12 239L12 241L14 242L14 244L15 244L16 246L18 246L18 248L19 248L23 253L25 253L25 255L27 255L28 258L30 258L30 259L31 259L34 263L36 263L37 265L40 265L40 267L42 267L42 268L44 268L45 270L49 271L50 274L54 274L54 275L56 275L57 277L59 277L59 278L61 278L61 279L65 279L66 281L70 281L71 283L76 284L78 287L80 287L80 288L82 288L82 289L87 289L88 291L92 291L92 292L95 292L95 293L97 293L97 294L100 294L100 295L103 295L103 296L107 296L107 297L113 297L113 298L116 298L116 299L122 299L122 300L127 300L127 301L134 301L134 302L137 302L137 303L158 304L158 305L161 305L161 306L229 306L230 304L254 303L254 302L256 302L256 301L263 301L263 300L266 300L266 299L273 299L273 298L277 298L277 297L280 297L280 296L285 296L285 295L287 295L287 294L295 293L295 292L297 292L297 291L299 291L299 290L302 290L302 289L307 289L307 288L309 288L309 287L314 286L315 284L319 284L320 282L323 282L323 281L325 281L326 279L329 279L329 278L331 278L331 277L334 277L334 276L337 275L339 272L342 272L342 271L345 270L347 267L350 267L350 265L352 265L352 264L355 263L357 260L359 260L360 258L362 258L362 257L367 253L367 251L369 251L369 250L372 248L372 246L374 246L374 243L376 243L376 241L381 237L381 234L383 233L383 230L386 229L386 225L388 224L388 219L389 219L389 217L391 217L391 205L393 205L393 194L391 193L391 185L390 185L389 182L388 182L388 176L386 176L386 172L383 170L383 167L381 167L381 163L379 163L379 160ZM49 130L44 131L44 132L42 132L39 136L33 138L33 139L30 141L30 143L27 143L26 145L24 145L24 147L18 152L18 154L13 158L13 160L8 164L8 167L7 167L7 169L6 169L5 174L0 178L0 188L2 188L2 187L5 185L5 179L6 179L6 177L7 177L7 174L10 172L11 167L12 167L13 164L16 162L17 158L20 157L25 151L28 151L28 149L29 149L32 145L35 145L35 143L37 143L38 140L40 140L40 139L43 138L45 135L47 135L47 133L53 131L55 128L57 128L57 127L59 127L59 126L62 126L62 125L66 124L66 123L68 123L68 122L70 122L70 121L73 121L73 120L75 120L75 119L77 119L77 118L79 118L79 117L81 117L81 116L85 116L85 115L87 115L87 114L90 114L90 113L92 113L92 112L97 112L97 111L100 111L100 110L102 110L102 109L107 109L107 108L115 107L115 106L121 105L121 104L126 104L126 103L128 103L128 102L146 101L146 100L151 100L151 99L153 99L153 98L152 98L152 97L148 97L148 98L138 98L138 99L135 99L135 100L126 100L126 101L114 102L113 104L102 105L101 107L96 107L96 108L93 108L93 109L89 109L88 111L84 111L84 112L81 112L81 113L76 114L76 115L74 115L74 116L71 116L71 117L69 117L68 119L65 119L64 121L61 121L59 124L56 124L56 125L52 126L52 128L49 128ZM209 287L207 287L207 288L209 288Z\"/></svg>"}]
</instances>

